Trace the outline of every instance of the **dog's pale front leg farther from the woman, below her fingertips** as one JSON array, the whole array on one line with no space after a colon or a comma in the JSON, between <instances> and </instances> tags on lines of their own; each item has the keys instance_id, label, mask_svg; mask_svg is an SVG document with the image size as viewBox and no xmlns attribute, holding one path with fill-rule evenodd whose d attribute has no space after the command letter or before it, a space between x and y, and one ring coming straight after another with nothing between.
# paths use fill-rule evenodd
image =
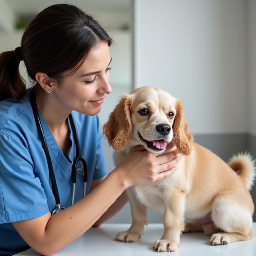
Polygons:
<instances>
[{"instance_id":1,"label":"dog's pale front leg farther from the woman, below her fingertips","mask_svg":"<svg viewBox=\"0 0 256 256\"><path fill-rule=\"evenodd\" d=\"M172 189L165 198L163 217L164 234L156 240L153 250L158 252L174 252L180 245L180 234L184 230L185 193Z\"/></svg>"}]
</instances>

